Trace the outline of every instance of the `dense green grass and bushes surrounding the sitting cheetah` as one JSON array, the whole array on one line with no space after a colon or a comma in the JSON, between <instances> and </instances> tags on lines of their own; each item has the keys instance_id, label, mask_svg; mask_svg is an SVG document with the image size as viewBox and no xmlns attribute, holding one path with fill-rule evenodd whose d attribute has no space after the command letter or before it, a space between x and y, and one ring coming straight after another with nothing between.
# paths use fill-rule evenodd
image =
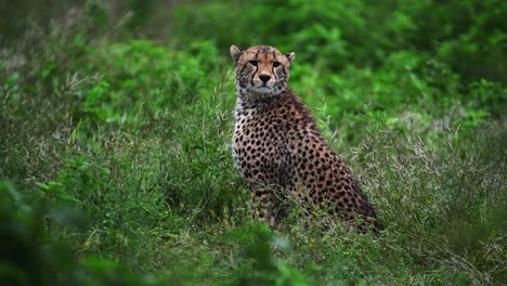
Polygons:
<instances>
[{"instance_id":1,"label":"dense green grass and bushes surrounding the sitting cheetah","mask_svg":"<svg viewBox=\"0 0 507 286\"><path fill-rule=\"evenodd\" d=\"M505 283L506 14L503 0L2 1L1 284ZM296 52L291 86L380 235L251 220L227 53L258 43Z\"/></svg>"}]
</instances>

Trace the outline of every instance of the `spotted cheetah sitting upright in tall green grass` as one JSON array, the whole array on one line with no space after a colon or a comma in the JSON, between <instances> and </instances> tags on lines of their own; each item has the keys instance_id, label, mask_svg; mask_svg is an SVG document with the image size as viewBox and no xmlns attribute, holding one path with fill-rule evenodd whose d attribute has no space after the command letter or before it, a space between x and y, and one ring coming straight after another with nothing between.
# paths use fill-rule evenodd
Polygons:
<instances>
[{"instance_id":1,"label":"spotted cheetah sitting upright in tall green grass","mask_svg":"<svg viewBox=\"0 0 507 286\"><path fill-rule=\"evenodd\" d=\"M288 87L296 54L269 46L230 52L237 93L232 155L251 190L255 217L278 225L295 197L308 213L317 208L361 233L380 230L359 183Z\"/></svg>"}]
</instances>

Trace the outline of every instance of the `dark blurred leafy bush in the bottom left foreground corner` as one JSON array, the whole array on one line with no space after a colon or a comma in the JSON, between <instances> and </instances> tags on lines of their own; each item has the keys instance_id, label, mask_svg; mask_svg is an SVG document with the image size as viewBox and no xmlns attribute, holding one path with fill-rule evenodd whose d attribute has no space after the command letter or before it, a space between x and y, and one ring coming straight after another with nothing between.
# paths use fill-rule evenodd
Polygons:
<instances>
[{"instance_id":1,"label":"dark blurred leafy bush in the bottom left foreground corner","mask_svg":"<svg viewBox=\"0 0 507 286\"><path fill-rule=\"evenodd\" d=\"M46 187L53 192L53 186ZM64 227L76 233L84 226L77 209L57 206L42 197L25 197L9 181L0 181L2 195L0 275L9 285L162 285L162 280L134 275L120 264L94 256L76 260L70 245L58 242L54 232ZM60 192L58 197L66 197ZM29 199L30 204L26 200ZM50 235L51 234L51 235ZM89 275L93 273L94 275Z\"/></svg>"}]
</instances>

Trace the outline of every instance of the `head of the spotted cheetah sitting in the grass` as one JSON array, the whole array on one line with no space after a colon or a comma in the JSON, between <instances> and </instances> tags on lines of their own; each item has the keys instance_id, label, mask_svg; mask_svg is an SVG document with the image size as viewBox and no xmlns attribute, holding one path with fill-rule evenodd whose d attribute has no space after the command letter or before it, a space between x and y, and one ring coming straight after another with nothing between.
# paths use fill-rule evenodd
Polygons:
<instances>
[{"instance_id":1,"label":"head of the spotted cheetah sitting in the grass","mask_svg":"<svg viewBox=\"0 0 507 286\"><path fill-rule=\"evenodd\" d=\"M287 88L295 53L284 54L269 46L255 46L247 50L231 46L231 55L236 64L236 91L240 99L275 96Z\"/></svg>"}]
</instances>

